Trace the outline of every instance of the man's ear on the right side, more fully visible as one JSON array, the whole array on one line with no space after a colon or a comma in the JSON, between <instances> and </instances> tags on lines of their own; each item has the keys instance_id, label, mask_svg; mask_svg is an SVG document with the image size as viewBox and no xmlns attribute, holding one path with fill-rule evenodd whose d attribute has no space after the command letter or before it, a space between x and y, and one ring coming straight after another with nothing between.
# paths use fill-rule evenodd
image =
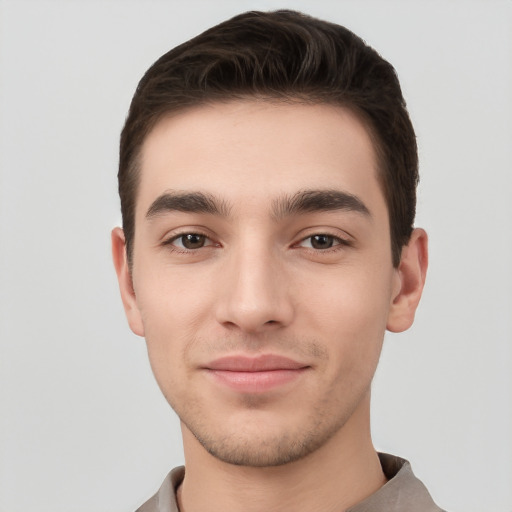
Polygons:
<instances>
[{"instance_id":1,"label":"man's ear on the right side, more fully visible","mask_svg":"<svg viewBox=\"0 0 512 512\"><path fill-rule=\"evenodd\" d=\"M388 315L387 329L402 332L411 327L421 298L428 267L428 237L416 228L402 249L396 269L396 288Z\"/></svg>"}]
</instances>

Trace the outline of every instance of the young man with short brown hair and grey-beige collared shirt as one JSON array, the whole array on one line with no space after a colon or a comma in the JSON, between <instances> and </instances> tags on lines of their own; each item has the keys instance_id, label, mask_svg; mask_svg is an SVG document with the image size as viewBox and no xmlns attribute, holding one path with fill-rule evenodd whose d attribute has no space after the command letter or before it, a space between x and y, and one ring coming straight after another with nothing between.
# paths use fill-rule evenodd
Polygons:
<instances>
[{"instance_id":1,"label":"young man with short brown hair and grey-beige collared shirt","mask_svg":"<svg viewBox=\"0 0 512 512\"><path fill-rule=\"evenodd\" d=\"M394 69L343 27L246 13L147 71L113 256L186 471L139 511L440 510L370 436L425 280L417 180Z\"/></svg>"}]
</instances>

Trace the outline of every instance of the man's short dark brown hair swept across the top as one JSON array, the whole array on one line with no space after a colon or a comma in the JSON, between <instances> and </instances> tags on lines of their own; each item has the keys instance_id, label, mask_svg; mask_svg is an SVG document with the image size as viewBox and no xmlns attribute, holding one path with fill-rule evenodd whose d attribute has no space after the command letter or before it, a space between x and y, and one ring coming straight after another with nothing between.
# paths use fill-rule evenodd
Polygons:
<instances>
[{"instance_id":1,"label":"man's short dark brown hair swept across the top","mask_svg":"<svg viewBox=\"0 0 512 512\"><path fill-rule=\"evenodd\" d=\"M288 10L235 16L160 57L140 81L118 173L130 264L139 157L151 129L168 113L247 97L340 105L359 115L378 155L398 266L413 229L418 155L396 72L348 29Z\"/></svg>"}]
</instances>

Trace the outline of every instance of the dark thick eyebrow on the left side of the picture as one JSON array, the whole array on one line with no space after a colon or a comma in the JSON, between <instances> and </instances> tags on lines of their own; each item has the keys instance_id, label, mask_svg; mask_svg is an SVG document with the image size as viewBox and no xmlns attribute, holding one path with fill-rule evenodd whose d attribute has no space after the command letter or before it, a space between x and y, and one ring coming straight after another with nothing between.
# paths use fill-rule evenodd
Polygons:
<instances>
[{"instance_id":1,"label":"dark thick eyebrow on the left side of the picture","mask_svg":"<svg viewBox=\"0 0 512 512\"><path fill-rule=\"evenodd\" d=\"M186 213L208 213L227 217L229 208L223 201L219 201L211 194L203 192L166 191L158 196L146 212L146 218L151 219L158 215L178 211Z\"/></svg>"}]
</instances>

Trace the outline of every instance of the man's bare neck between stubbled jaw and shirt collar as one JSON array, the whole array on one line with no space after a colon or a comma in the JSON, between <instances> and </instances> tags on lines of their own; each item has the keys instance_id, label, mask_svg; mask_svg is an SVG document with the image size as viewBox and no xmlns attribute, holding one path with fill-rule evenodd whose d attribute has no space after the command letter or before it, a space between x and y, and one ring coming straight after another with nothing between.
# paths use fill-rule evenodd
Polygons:
<instances>
[{"instance_id":1,"label":"man's bare neck between stubbled jaw and shirt collar","mask_svg":"<svg viewBox=\"0 0 512 512\"><path fill-rule=\"evenodd\" d=\"M369 397L322 447L282 466L234 466L213 457L185 427L181 512L340 512L377 491L386 478L369 427Z\"/></svg>"}]
</instances>

